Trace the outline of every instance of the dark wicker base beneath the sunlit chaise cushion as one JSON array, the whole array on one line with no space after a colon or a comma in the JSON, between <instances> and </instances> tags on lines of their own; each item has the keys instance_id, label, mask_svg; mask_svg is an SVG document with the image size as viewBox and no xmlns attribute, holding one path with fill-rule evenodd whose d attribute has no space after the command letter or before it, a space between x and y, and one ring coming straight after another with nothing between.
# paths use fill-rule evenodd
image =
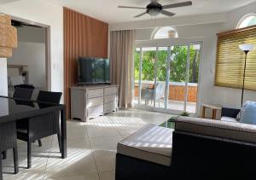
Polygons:
<instances>
[{"instance_id":1,"label":"dark wicker base beneath the sunlit chaise cushion","mask_svg":"<svg viewBox=\"0 0 256 180\"><path fill-rule=\"evenodd\" d=\"M116 154L116 180L170 180L171 167Z\"/></svg>"}]
</instances>

